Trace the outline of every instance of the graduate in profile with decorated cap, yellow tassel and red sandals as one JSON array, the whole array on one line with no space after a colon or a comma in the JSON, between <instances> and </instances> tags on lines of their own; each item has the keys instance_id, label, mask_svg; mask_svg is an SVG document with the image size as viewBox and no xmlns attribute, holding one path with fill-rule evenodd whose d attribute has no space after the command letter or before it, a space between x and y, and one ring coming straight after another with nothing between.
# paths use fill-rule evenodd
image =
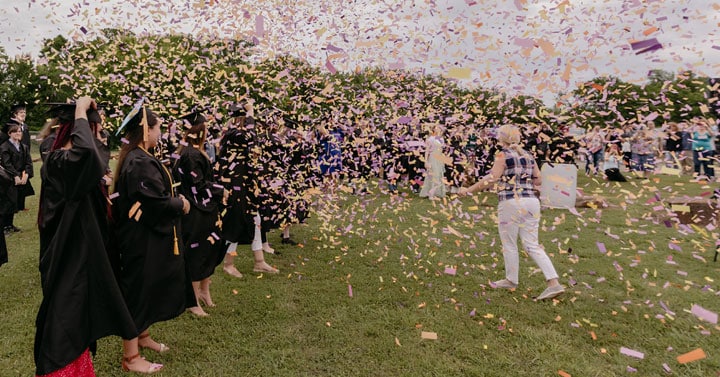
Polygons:
<instances>
[{"instance_id":1,"label":"graduate in profile with decorated cap, yellow tassel and red sandals","mask_svg":"<svg viewBox=\"0 0 720 377\"><path fill-rule=\"evenodd\" d=\"M151 153L160 138L160 123L140 105L123 121L125 140L113 194L120 287L140 332L123 340L122 366L143 373L156 372L162 365L140 357L139 348L169 350L150 337L150 325L197 305L179 238L180 218L190 211L190 202L175 196L170 172Z\"/></svg>"}]
</instances>

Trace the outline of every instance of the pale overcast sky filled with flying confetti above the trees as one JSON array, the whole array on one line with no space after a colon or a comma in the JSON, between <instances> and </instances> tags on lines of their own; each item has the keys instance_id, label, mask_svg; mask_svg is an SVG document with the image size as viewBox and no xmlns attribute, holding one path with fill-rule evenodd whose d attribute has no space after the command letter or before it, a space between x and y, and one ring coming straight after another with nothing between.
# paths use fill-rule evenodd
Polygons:
<instances>
[{"instance_id":1,"label":"pale overcast sky filled with flying confetti above the trees","mask_svg":"<svg viewBox=\"0 0 720 377\"><path fill-rule=\"evenodd\" d=\"M217 34L329 71L420 70L545 101L604 75L720 75L720 0L0 0L0 25L10 56L106 27ZM662 48L631 48L653 38Z\"/></svg>"}]
</instances>

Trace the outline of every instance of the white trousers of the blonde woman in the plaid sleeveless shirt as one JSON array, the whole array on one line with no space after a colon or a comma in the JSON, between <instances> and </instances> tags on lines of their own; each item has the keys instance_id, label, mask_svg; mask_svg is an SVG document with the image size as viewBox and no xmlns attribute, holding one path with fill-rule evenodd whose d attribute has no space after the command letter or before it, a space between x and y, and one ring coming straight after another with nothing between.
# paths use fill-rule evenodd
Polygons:
<instances>
[{"instance_id":1,"label":"white trousers of the blonde woman in the plaid sleeveless shirt","mask_svg":"<svg viewBox=\"0 0 720 377\"><path fill-rule=\"evenodd\" d=\"M520 268L517 247L518 233L525 250L545 275L545 280L558 277L550 258L538 242L540 224L540 201L538 199L517 198L501 201L498 204L498 221L498 231L505 259L505 277L508 280L516 284L518 282Z\"/></svg>"}]
</instances>

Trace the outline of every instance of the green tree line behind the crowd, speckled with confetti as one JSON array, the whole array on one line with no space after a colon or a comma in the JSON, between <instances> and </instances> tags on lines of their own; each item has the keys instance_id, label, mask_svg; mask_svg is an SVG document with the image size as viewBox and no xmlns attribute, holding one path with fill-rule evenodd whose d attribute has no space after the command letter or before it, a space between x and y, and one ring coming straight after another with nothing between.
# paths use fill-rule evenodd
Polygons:
<instances>
[{"instance_id":1,"label":"green tree line behind the crowd, speckled with confetti","mask_svg":"<svg viewBox=\"0 0 720 377\"><path fill-rule=\"evenodd\" d=\"M110 128L141 97L166 117L201 109L218 120L230 103L251 100L261 113L308 127L327 117L376 127L408 117L428 122L454 117L478 127L504 122L592 127L717 119L720 110L720 83L691 71L651 71L642 85L598 77L558 94L548 107L532 96L468 88L439 75L379 68L331 73L290 55L260 59L253 47L242 40L105 29L90 41L46 39L37 59L11 58L0 50L0 119L9 119L12 104L26 103L28 123L39 129L44 103L80 95L105 103Z\"/></svg>"}]
</instances>

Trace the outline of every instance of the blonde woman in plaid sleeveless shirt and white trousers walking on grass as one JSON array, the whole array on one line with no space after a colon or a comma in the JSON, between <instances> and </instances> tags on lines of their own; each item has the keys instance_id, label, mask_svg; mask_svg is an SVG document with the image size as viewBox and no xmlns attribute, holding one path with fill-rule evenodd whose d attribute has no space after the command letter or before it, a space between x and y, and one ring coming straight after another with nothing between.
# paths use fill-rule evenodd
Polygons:
<instances>
[{"instance_id":1,"label":"blonde woman in plaid sleeveless shirt and white trousers walking on grass","mask_svg":"<svg viewBox=\"0 0 720 377\"><path fill-rule=\"evenodd\" d=\"M547 288L537 296L546 300L563 293L565 289L558 281L558 274L550 258L538 241L540 224L540 201L536 190L542 184L532 154L520 145L520 130L513 125L504 125L498 130L501 151L495 155L490 173L469 188L460 189L459 194L470 194L490 187L498 188L498 231L505 259L505 279L491 284L494 288L513 289L518 285L519 253L518 235L523 246L540 267Z\"/></svg>"}]
</instances>

